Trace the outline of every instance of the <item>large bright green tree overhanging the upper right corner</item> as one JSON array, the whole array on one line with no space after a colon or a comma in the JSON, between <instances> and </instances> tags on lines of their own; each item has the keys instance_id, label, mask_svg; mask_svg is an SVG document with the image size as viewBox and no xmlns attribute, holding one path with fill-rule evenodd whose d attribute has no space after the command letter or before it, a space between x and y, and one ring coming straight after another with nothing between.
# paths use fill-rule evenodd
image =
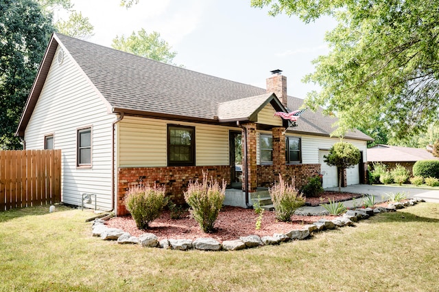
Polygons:
<instances>
[{"instance_id":1,"label":"large bright green tree overhanging the upper right corner","mask_svg":"<svg viewBox=\"0 0 439 292\"><path fill-rule=\"evenodd\" d=\"M439 0L252 0L270 14L310 22L329 15L331 52L306 82L306 104L339 117L340 131L385 126L395 137L423 131L439 108Z\"/></svg>"}]
</instances>

